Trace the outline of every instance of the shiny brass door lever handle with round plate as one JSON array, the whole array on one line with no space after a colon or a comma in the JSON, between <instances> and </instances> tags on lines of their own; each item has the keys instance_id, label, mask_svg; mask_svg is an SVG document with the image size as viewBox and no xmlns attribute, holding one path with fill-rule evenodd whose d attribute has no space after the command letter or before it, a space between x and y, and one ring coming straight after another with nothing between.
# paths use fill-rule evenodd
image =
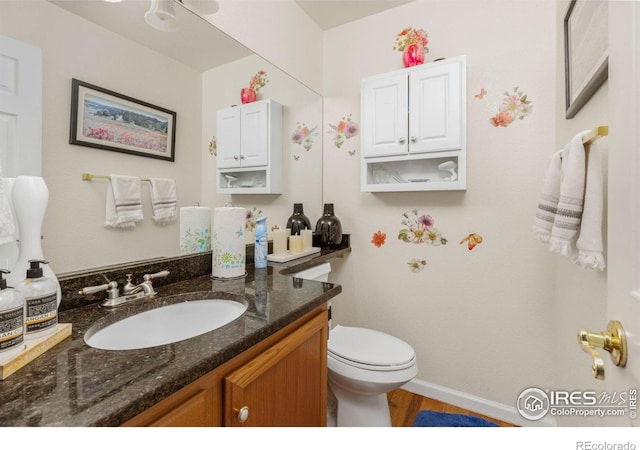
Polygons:
<instances>
[{"instance_id":1,"label":"shiny brass door lever handle with round plate","mask_svg":"<svg viewBox=\"0 0 640 450\"><path fill-rule=\"evenodd\" d=\"M610 321L607 324L607 331L602 333L579 329L578 344L591 356L593 376L598 380L604 380L604 361L598 352L599 348L609 352L616 366L624 367L627 364L627 338L622 324L617 320Z\"/></svg>"}]
</instances>

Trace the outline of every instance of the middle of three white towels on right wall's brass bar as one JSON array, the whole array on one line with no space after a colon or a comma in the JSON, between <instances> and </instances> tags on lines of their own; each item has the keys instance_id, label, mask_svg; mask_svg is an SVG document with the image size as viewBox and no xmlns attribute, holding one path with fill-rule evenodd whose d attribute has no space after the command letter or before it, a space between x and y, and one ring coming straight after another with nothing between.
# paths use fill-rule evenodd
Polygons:
<instances>
[{"instance_id":1,"label":"middle of three white towels on right wall's brass bar","mask_svg":"<svg viewBox=\"0 0 640 450\"><path fill-rule=\"evenodd\" d=\"M558 210L551 229L549 250L564 256L575 254L584 207L586 158L582 138L591 130L575 135L562 149L562 174Z\"/></svg>"}]
</instances>

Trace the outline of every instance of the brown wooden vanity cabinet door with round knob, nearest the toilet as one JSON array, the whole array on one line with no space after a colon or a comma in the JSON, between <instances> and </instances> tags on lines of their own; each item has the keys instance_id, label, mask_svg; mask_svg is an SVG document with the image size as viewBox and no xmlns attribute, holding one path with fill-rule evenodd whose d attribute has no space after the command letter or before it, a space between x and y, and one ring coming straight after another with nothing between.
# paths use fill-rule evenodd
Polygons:
<instances>
[{"instance_id":1,"label":"brown wooden vanity cabinet door with round knob, nearest the toilet","mask_svg":"<svg viewBox=\"0 0 640 450\"><path fill-rule=\"evenodd\" d=\"M317 315L228 375L225 426L326 426L327 333Z\"/></svg>"}]
</instances>

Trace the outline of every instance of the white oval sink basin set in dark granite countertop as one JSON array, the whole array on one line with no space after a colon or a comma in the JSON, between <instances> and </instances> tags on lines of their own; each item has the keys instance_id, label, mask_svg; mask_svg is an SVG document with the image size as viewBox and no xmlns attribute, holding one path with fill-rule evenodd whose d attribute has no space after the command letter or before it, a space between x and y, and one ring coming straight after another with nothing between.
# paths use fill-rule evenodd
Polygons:
<instances>
[{"instance_id":1,"label":"white oval sink basin set in dark granite countertop","mask_svg":"<svg viewBox=\"0 0 640 450\"><path fill-rule=\"evenodd\" d=\"M207 299L150 309L84 335L87 345L103 350L134 350L189 339L240 317L247 305Z\"/></svg>"}]
</instances>

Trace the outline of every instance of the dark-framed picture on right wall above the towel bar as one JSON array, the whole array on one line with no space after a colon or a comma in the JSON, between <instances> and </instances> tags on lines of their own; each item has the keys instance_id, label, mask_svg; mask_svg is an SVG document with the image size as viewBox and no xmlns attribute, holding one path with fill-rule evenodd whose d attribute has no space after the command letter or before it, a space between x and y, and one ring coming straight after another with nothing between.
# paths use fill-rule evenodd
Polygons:
<instances>
[{"instance_id":1,"label":"dark-framed picture on right wall above the towel bar","mask_svg":"<svg viewBox=\"0 0 640 450\"><path fill-rule=\"evenodd\" d=\"M565 117L571 119L608 78L607 0L571 0L564 18Z\"/></svg>"}]
</instances>

